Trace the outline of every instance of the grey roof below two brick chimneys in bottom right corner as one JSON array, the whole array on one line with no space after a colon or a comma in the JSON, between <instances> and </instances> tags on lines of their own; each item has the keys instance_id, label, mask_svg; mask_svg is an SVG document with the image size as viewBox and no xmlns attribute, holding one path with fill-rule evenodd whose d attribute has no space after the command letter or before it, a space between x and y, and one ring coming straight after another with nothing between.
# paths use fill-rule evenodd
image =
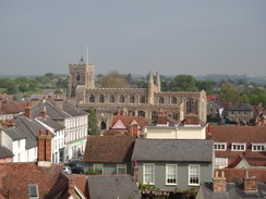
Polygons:
<instances>
[{"instance_id":1,"label":"grey roof below two brick chimneys in bottom right corner","mask_svg":"<svg viewBox=\"0 0 266 199\"><path fill-rule=\"evenodd\" d=\"M213 183L203 183L197 192L197 199L252 199L266 198L266 184L257 183L257 191L244 191L243 184L227 183L226 191L213 191Z\"/></svg>"}]
</instances>

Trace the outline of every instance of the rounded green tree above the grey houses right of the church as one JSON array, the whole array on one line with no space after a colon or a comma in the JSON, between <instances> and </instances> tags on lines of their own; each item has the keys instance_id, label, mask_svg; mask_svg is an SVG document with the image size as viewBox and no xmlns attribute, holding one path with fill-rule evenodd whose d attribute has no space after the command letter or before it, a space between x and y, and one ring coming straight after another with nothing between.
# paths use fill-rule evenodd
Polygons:
<instances>
[{"instance_id":1,"label":"rounded green tree above the grey houses right of the church","mask_svg":"<svg viewBox=\"0 0 266 199\"><path fill-rule=\"evenodd\" d=\"M221 86L219 98L234 104L238 104L240 101L239 92L233 88L231 83L226 83Z\"/></svg>"}]
</instances>

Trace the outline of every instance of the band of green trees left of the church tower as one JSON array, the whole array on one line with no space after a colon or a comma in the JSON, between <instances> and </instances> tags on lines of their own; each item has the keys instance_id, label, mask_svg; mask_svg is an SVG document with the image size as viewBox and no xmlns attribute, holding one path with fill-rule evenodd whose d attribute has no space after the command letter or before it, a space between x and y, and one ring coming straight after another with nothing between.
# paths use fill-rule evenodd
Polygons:
<instances>
[{"instance_id":1,"label":"band of green trees left of the church tower","mask_svg":"<svg viewBox=\"0 0 266 199\"><path fill-rule=\"evenodd\" d=\"M44 76L27 78L25 76L16 78L0 78L0 92L14 95L17 92L38 91L44 88L66 88L65 76L47 73Z\"/></svg>"}]
</instances>

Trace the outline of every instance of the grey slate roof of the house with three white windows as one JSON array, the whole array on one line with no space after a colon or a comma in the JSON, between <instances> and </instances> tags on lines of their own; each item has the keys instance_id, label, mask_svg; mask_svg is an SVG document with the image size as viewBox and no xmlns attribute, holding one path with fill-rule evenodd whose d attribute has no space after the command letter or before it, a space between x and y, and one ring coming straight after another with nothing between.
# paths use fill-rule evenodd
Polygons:
<instances>
[{"instance_id":1,"label":"grey slate roof of the house with three white windows","mask_svg":"<svg viewBox=\"0 0 266 199\"><path fill-rule=\"evenodd\" d=\"M136 139L132 159L211 162L213 144L206 139Z\"/></svg>"}]
</instances>

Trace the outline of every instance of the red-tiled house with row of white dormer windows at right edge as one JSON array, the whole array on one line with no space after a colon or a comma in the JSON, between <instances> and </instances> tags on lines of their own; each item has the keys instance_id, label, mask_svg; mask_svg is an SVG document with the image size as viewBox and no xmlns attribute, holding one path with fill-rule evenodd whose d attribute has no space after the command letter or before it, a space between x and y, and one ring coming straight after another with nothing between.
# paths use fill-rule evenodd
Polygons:
<instances>
[{"instance_id":1,"label":"red-tiled house with row of white dormer windows at right edge","mask_svg":"<svg viewBox=\"0 0 266 199\"><path fill-rule=\"evenodd\" d=\"M208 126L206 138L215 142L215 167L235 164L242 156L251 166L266 166L266 126Z\"/></svg>"}]
</instances>

